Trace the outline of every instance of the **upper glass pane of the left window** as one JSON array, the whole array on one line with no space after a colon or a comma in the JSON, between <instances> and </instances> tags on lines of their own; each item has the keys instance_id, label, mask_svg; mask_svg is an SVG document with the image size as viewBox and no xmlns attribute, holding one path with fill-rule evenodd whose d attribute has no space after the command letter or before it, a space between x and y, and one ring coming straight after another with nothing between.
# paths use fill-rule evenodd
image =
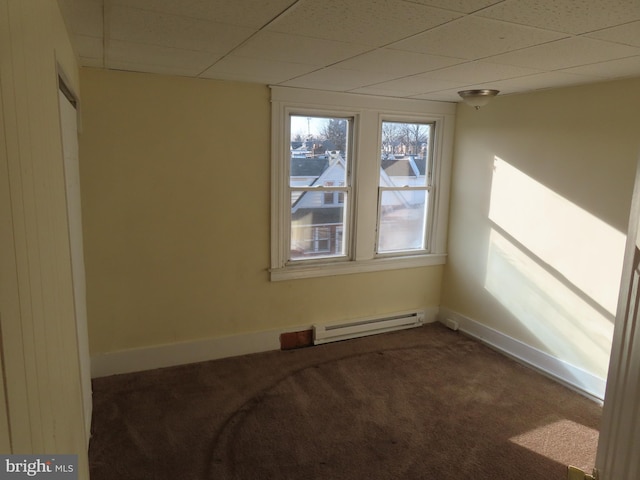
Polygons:
<instances>
[{"instance_id":1,"label":"upper glass pane of the left window","mask_svg":"<svg viewBox=\"0 0 640 480\"><path fill-rule=\"evenodd\" d=\"M318 180L346 183L348 118L291 115L290 185L308 187Z\"/></svg>"}]
</instances>

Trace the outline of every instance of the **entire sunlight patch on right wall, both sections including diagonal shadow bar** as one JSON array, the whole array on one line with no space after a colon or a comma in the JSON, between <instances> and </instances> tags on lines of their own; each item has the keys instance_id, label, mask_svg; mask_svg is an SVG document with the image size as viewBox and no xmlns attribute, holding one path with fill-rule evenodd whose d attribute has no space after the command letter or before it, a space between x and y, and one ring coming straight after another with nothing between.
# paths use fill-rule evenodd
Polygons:
<instances>
[{"instance_id":1,"label":"entire sunlight patch on right wall, both sections including diagonal shadow bar","mask_svg":"<svg viewBox=\"0 0 640 480\"><path fill-rule=\"evenodd\" d=\"M625 235L494 161L485 288L550 353L606 378Z\"/></svg>"}]
</instances>

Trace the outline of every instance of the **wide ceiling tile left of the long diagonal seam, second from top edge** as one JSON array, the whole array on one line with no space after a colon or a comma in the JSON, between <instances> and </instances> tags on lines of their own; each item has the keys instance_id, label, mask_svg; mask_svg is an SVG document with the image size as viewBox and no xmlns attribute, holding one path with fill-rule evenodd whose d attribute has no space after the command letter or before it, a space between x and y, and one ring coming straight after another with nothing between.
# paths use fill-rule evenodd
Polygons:
<instances>
[{"instance_id":1,"label":"wide ceiling tile left of the long diagonal seam, second from top edge","mask_svg":"<svg viewBox=\"0 0 640 480\"><path fill-rule=\"evenodd\" d=\"M133 8L111 9L109 40L227 53L254 30Z\"/></svg>"}]
</instances>

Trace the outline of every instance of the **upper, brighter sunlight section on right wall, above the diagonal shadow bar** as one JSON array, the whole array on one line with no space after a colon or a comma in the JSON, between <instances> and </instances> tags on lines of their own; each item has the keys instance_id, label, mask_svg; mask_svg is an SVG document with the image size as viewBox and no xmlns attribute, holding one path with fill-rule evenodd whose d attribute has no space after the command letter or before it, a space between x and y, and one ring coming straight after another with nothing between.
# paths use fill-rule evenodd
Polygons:
<instances>
[{"instance_id":1,"label":"upper, brighter sunlight section on right wall, above the diagonal shadow bar","mask_svg":"<svg viewBox=\"0 0 640 480\"><path fill-rule=\"evenodd\" d=\"M615 315L623 233L498 157L489 218Z\"/></svg>"}]
</instances>

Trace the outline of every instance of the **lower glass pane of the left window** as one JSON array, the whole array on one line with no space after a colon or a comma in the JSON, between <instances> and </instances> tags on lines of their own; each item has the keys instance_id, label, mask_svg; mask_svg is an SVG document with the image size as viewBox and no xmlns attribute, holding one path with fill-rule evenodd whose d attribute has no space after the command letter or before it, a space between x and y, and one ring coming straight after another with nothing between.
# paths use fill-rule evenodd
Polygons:
<instances>
[{"instance_id":1,"label":"lower glass pane of the left window","mask_svg":"<svg viewBox=\"0 0 640 480\"><path fill-rule=\"evenodd\" d=\"M327 202L327 196L334 201ZM347 198L343 190L291 193L291 260L345 255Z\"/></svg>"}]
</instances>

